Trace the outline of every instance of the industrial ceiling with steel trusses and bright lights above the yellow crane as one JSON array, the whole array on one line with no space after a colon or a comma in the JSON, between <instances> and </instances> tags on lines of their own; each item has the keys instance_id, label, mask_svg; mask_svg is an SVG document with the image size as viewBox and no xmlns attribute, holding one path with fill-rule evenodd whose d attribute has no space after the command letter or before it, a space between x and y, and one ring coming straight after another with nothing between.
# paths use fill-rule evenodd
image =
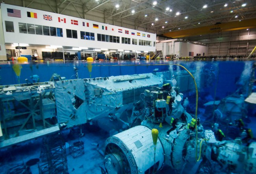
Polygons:
<instances>
[{"instance_id":1,"label":"industrial ceiling with steel trusses and bright lights above the yellow crane","mask_svg":"<svg viewBox=\"0 0 256 174\"><path fill-rule=\"evenodd\" d=\"M35 4L36 7L34 5L30 8L37 9L40 9L40 3L45 3L48 4L48 11L62 14L72 6L80 18L86 18L90 13L97 15L97 12L102 11L106 23L111 20L113 25L121 26L121 23L115 21L133 21L134 26L131 25L130 28L143 28L160 35L170 31L256 18L256 0L54 0L55 5L52 2L53 0L6 0L6 4L24 7ZM82 12L79 6L82 7Z\"/></svg>"}]
</instances>

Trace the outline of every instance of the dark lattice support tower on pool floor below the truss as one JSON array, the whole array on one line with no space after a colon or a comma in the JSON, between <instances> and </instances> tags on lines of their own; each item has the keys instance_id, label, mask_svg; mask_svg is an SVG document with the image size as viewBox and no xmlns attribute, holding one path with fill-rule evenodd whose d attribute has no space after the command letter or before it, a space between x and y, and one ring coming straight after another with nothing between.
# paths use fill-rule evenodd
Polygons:
<instances>
[{"instance_id":1,"label":"dark lattice support tower on pool floor below the truss","mask_svg":"<svg viewBox=\"0 0 256 174\"><path fill-rule=\"evenodd\" d=\"M66 147L61 133L48 135L43 142L39 174L68 174Z\"/></svg>"}]
</instances>

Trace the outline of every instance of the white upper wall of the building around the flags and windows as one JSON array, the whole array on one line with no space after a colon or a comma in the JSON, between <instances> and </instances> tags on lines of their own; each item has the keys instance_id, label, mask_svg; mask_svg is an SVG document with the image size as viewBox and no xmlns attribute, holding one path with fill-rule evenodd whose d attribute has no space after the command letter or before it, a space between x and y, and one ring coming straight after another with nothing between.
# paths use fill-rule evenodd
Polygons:
<instances>
[{"instance_id":1,"label":"white upper wall of the building around the flags and windows","mask_svg":"<svg viewBox=\"0 0 256 174\"><path fill-rule=\"evenodd\" d=\"M20 9L22 18L10 17L7 16L7 8L11 9ZM13 5L1 4L3 21L12 21L14 23L14 33L4 31L4 37L6 43L26 43L26 44L40 44L40 45L61 45L61 46L70 46L70 47L90 47L90 48L107 48L107 49L126 49L126 50L138 50L138 51L155 51L155 47L142 46L142 45L132 45L132 44L118 44L111 42L99 42L97 41L97 33L98 34L107 34L112 36L120 36L137 39L137 40L148 40L155 42L156 34L136 31L133 29L117 27L114 25L103 24L100 22L94 22L90 20L84 20L81 18L75 18L71 16L66 16L62 14L50 13L41 10L35 10L25 7L18 7ZM37 18L29 18L27 17L27 11L37 13ZM52 21L47 21L43 19L43 14L48 14L52 16ZM58 17L66 18L66 23L58 22ZM71 20L78 20L78 25L72 25ZM27 24L37 24L37 25L45 25L50 27L59 27L63 29L63 37L56 36L44 36L38 34L26 34L19 33L19 25L18 23L27 23ZM85 22L85 26L82 25L82 22ZM86 27L86 23L89 23L89 27ZM5 23L4 29L5 29ZM98 25L98 29L93 28L93 24ZM107 26L108 30L103 30L102 26ZM78 34L78 39L75 38L67 38L66 29L76 30ZM122 33L118 32L118 29L122 29ZM125 34L125 30L129 31L129 34ZM87 31L91 33L95 33L95 40L83 40L80 39L80 31ZM132 32L135 35L132 35ZM141 33L140 36L137 36L137 33ZM145 37L143 37L145 34ZM147 37L149 35L149 37Z\"/></svg>"}]
</instances>

